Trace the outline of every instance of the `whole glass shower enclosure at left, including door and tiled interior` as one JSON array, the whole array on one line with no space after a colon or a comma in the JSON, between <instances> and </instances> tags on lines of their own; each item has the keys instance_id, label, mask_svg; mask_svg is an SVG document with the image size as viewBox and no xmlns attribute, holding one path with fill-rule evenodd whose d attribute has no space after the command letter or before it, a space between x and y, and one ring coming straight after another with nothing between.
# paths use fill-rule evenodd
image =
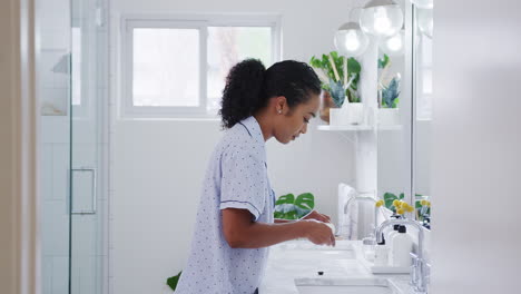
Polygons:
<instances>
[{"instance_id":1,"label":"whole glass shower enclosure at left, including door and tiled interior","mask_svg":"<svg viewBox=\"0 0 521 294\"><path fill-rule=\"evenodd\" d=\"M42 293L108 293L108 2L37 0Z\"/></svg>"}]
</instances>

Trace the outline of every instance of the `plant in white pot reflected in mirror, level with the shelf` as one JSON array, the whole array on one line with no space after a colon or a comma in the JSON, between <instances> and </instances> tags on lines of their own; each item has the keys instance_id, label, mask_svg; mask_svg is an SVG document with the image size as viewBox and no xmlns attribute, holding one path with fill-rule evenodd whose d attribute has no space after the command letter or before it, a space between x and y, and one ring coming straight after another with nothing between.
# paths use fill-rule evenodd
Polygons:
<instances>
[{"instance_id":1,"label":"plant in white pot reflected in mirror, level with the shelf","mask_svg":"<svg viewBox=\"0 0 521 294\"><path fill-rule=\"evenodd\" d=\"M400 125L400 82L401 75L397 72L385 82L385 77L391 66L387 55L379 59L379 68L382 69L379 81L379 125L396 126Z\"/></svg>"}]
</instances>

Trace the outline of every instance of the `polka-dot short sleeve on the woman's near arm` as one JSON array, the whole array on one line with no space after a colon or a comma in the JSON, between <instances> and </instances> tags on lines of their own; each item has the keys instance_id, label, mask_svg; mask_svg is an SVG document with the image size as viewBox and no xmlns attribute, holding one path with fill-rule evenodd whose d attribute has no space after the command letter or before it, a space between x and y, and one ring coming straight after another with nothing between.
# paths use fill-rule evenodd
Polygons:
<instances>
[{"instance_id":1,"label":"polka-dot short sleeve on the woman's near arm","mask_svg":"<svg viewBox=\"0 0 521 294\"><path fill-rule=\"evenodd\" d=\"M257 220L266 203L266 171L264 161L246 149L223 154L220 209L247 209Z\"/></svg>"}]
</instances>

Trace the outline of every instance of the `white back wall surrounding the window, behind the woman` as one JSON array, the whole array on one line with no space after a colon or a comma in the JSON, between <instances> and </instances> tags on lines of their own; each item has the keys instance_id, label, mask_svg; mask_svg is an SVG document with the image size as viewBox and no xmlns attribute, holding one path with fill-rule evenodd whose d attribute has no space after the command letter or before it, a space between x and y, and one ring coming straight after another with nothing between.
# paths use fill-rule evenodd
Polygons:
<instances>
[{"instance_id":1,"label":"white back wall surrounding the window, behind the woman","mask_svg":"<svg viewBox=\"0 0 521 294\"><path fill-rule=\"evenodd\" d=\"M333 50L336 28L347 20L348 8L362 2L115 0L112 75L119 75L116 33L125 13L282 14L283 58L308 61L313 55ZM111 94L116 101L117 89ZM317 131L315 124L288 146L267 143L269 176L277 195L312 192L317 208L336 219L337 184L355 183L353 145L338 134ZM222 136L218 130L218 121L116 118L110 196L112 293L169 293L165 281L186 263L200 184Z\"/></svg>"}]
</instances>

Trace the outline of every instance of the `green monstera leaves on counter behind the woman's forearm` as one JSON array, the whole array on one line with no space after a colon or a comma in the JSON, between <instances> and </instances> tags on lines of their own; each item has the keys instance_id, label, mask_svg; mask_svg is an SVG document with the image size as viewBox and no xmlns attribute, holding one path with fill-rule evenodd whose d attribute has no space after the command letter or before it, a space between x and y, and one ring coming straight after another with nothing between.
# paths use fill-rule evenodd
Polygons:
<instances>
[{"instance_id":1,"label":"green monstera leaves on counter behind the woman's forearm","mask_svg":"<svg viewBox=\"0 0 521 294\"><path fill-rule=\"evenodd\" d=\"M315 196L303 193L295 198L293 194L278 197L275 202L274 217L279 219L298 219L307 215L315 207Z\"/></svg>"}]
</instances>

